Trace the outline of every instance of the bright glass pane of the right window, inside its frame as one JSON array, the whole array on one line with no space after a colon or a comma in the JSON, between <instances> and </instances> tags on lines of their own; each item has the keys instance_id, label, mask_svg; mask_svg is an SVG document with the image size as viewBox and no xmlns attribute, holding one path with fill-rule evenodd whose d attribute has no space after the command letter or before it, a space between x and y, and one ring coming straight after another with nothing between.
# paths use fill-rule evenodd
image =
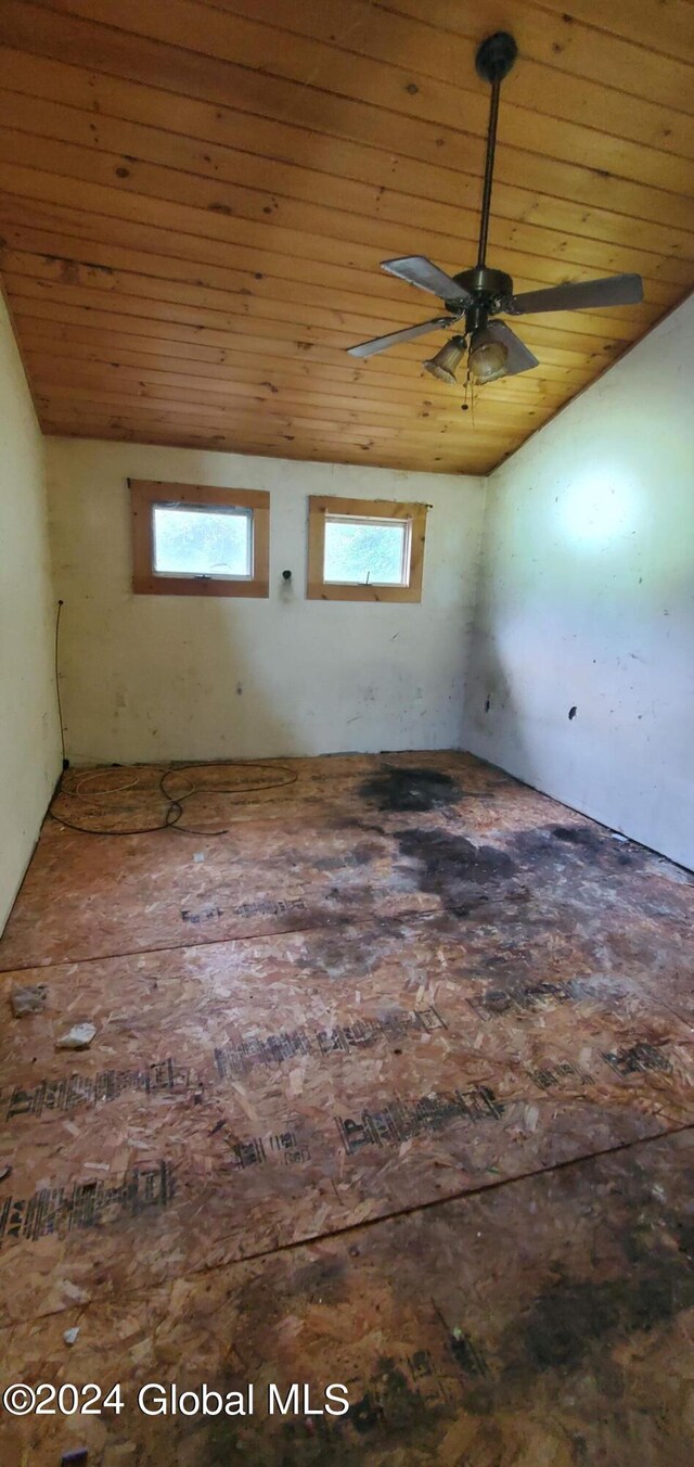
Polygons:
<instances>
[{"instance_id":1,"label":"bright glass pane of the right window, inside its frame","mask_svg":"<svg viewBox=\"0 0 694 1467\"><path fill-rule=\"evenodd\" d=\"M406 585L409 521L337 519L326 515L326 581L355 585Z\"/></svg>"}]
</instances>

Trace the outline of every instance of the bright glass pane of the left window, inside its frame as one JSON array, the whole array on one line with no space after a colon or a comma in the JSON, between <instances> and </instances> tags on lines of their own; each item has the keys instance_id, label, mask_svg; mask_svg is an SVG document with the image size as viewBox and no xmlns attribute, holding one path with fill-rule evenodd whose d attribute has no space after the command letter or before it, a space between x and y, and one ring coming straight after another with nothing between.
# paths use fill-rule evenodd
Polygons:
<instances>
[{"instance_id":1,"label":"bright glass pane of the left window, inside its frame","mask_svg":"<svg viewBox=\"0 0 694 1467\"><path fill-rule=\"evenodd\" d=\"M154 571L160 575L249 577L249 509L154 505Z\"/></svg>"}]
</instances>

